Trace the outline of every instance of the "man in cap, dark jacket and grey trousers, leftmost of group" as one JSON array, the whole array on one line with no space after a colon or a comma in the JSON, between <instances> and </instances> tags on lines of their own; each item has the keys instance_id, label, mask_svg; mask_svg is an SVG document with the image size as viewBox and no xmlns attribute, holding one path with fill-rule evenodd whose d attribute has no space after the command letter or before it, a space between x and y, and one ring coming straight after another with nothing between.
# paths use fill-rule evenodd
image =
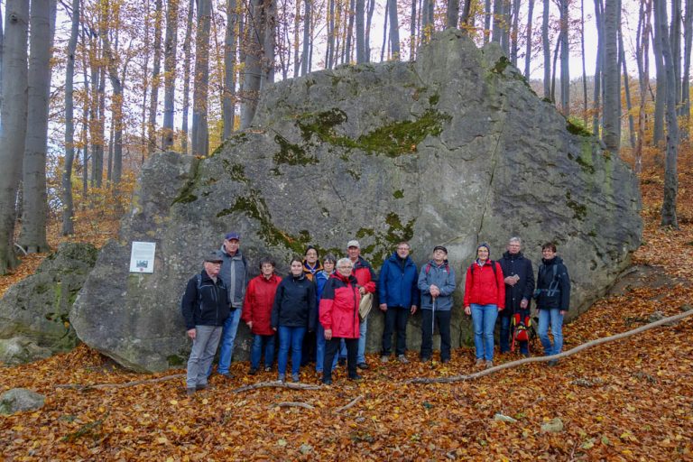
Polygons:
<instances>
[{"instance_id":1,"label":"man in cap, dark jacket and grey trousers, leftmost of group","mask_svg":"<svg viewBox=\"0 0 693 462\"><path fill-rule=\"evenodd\" d=\"M217 353L229 311L226 284L219 277L222 255L212 252L204 260L204 269L189 279L180 302L186 333L192 340L186 379L188 396L207 388L207 371Z\"/></svg>"}]
</instances>

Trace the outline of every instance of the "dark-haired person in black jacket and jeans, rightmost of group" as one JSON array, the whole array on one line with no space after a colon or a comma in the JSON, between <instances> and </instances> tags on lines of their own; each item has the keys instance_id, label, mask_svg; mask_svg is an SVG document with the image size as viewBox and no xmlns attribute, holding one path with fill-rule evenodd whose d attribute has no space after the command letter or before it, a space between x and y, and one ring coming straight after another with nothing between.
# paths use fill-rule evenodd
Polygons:
<instances>
[{"instance_id":1,"label":"dark-haired person in black jacket and jeans, rightmost of group","mask_svg":"<svg viewBox=\"0 0 693 462\"><path fill-rule=\"evenodd\" d=\"M541 256L534 296L539 310L539 339L546 356L552 356L563 349L563 316L570 308L570 277L563 260L556 254L556 245L550 242L542 245ZM557 364L558 359L549 362L549 365Z\"/></svg>"}]
</instances>

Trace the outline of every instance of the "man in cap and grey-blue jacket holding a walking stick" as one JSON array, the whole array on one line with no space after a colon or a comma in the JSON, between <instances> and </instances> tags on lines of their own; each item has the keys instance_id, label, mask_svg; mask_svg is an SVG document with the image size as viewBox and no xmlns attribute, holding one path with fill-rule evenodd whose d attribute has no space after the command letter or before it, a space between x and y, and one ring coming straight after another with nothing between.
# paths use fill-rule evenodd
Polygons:
<instances>
[{"instance_id":1,"label":"man in cap and grey-blue jacket holding a walking stick","mask_svg":"<svg viewBox=\"0 0 693 462\"><path fill-rule=\"evenodd\" d=\"M435 322L440 332L440 361L448 363L455 270L448 264L448 249L443 245L433 247L433 258L421 267L418 285L421 291L421 361L430 361L433 356Z\"/></svg>"}]
</instances>

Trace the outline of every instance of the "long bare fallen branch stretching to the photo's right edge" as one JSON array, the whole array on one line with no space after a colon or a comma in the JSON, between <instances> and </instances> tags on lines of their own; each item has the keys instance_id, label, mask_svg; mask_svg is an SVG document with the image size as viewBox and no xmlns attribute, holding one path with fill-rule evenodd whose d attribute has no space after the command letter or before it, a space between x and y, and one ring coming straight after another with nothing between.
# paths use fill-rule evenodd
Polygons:
<instances>
[{"instance_id":1,"label":"long bare fallen branch stretching to the photo's right edge","mask_svg":"<svg viewBox=\"0 0 693 462\"><path fill-rule=\"evenodd\" d=\"M635 334L640 334L641 332L644 332L645 330L650 330L651 328L658 328L661 325L664 324L669 324L671 322L676 322L679 321L680 319L688 318L688 316L693 316L693 310L688 310L683 313L679 313L674 316L670 316L669 318L663 318L655 322L651 322L650 324L647 324L645 326L642 326L640 328L634 328L633 330L628 330L626 332L622 332L620 334L615 334L613 336L609 337L603 337L603 338L597 338L596 340L592 340L590 342L584 343L582 345L578 345L575 348L572 348L568 351L564 351L563 353L559 353L558 355L552 355L552 356L534 356L534 357L525 357L523 359L518 359L517 361L512 361L510 363L505 363L503 365L494 365L494 367L490 367L488 369L485 369L483 371L477 372L475 374L468 374L468 375L453 375L450 377L434 377L434 378L425 378L425 377L417 377L413 379L409 379L405 381L405 383L454 383L454 382L462 382L465 380L475 380L480 377L484 377L485 375L489 374L494 374L498 371L502 371L504 369L510 369L513 367L517 367L518 365L526 365L530 363L546 363L549 361L552 361L554 359L561 359L564 357L568 356L573 356L577 353L579 353L582 350L585 350L587 348L591 347L596 347L597 345L602 345L608 342L613 342L615 340L620 340L625 337L631 337L634 336Z\"/></svg>"}]
</instances>

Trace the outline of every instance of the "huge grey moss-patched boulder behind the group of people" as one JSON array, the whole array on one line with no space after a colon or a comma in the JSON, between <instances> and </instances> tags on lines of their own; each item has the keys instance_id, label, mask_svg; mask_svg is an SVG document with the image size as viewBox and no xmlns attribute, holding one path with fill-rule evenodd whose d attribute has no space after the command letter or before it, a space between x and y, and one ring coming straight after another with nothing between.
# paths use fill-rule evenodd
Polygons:
<instances>
[{"instance_id":1,"label":"huge grey moss-patched boulder behind the group of people","mask_svg":"<svg viewBox=\"0 0 693 462\"><path fill-rule=\"evenodd\" d=\"M448 247L458 346L468 339L460 304L477 243L498 258L510 236L522 236L536 271L541 243L556 242L577 313L639 245L639 210L624 162L533 94L496 46L479 50L448 31L414 63L341 67L269 88L254 127L207 159L153 157L119 242L99 255L70 319L83 341L123 365L180 366L189 349L184 283L225 232L241 234L254 266L273 255L280 273L306 245L342 255L355 237L378 270L407 239L418 264L433 245ZM153 274L127 273L132 241L156 242ZM370 351L382 327L373 310ZM420 345L419 327L417 315L410 348ZM239 335L243 358L244 326Z\"/></svg>"}]
</instances>

